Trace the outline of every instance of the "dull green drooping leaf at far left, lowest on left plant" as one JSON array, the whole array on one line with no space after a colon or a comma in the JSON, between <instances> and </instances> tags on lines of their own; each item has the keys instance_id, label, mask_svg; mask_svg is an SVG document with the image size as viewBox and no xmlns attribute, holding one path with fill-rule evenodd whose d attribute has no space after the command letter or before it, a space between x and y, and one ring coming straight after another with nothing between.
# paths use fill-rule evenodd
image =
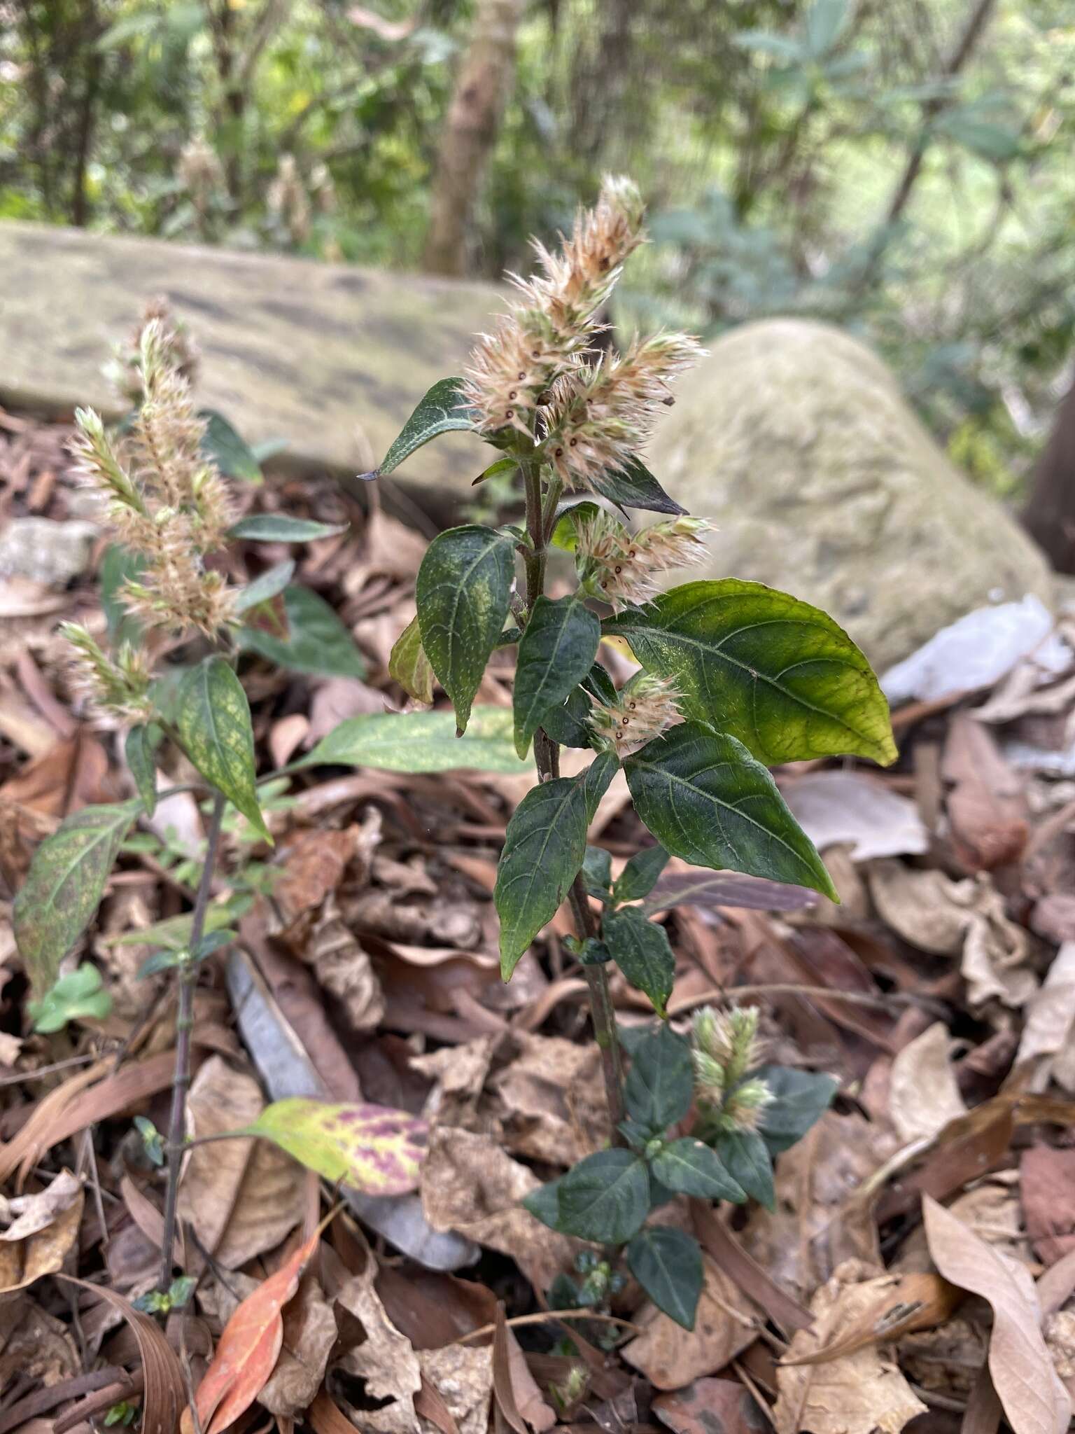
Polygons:
<instances>
[{"instance_id":1,"label":"dull green drooping leaf at far left, lowest on left plant","mask_svg":"<svg viewBox=\"0 0 1075 1434\"><path fill-rule=\"evenodd\" d=\"M14 939L34 991L54 982L60 962L93 919L140 809L140 800L83 807L34 852L13 908Z\"/></svg>"}]
</instances>

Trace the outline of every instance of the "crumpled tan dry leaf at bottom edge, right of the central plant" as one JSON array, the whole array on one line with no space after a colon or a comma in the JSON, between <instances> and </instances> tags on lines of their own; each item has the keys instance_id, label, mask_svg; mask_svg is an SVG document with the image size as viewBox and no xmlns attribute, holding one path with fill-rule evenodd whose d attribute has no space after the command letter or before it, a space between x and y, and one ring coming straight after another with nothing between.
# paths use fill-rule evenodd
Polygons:
<instances>
[{"instance_id":1,"label":"crumpled tan dry leaf at bottom edge, right of the central plant","mask_svg":"<svg viewBox=\"0 0 1075 1434\"><path fill-rule=\"evenodd\" d=\"M818 1349L838 1345L892 1289L887 1275L869 1276L859 1260L846 1260L814 1295L814 1324L791 1341L791 1361L777 1365L777 1434L897 1434L926 1405L916 1398L894 1359L870 1344L823 1362L807 1362Z\"/></svg>"}]
</instances>

